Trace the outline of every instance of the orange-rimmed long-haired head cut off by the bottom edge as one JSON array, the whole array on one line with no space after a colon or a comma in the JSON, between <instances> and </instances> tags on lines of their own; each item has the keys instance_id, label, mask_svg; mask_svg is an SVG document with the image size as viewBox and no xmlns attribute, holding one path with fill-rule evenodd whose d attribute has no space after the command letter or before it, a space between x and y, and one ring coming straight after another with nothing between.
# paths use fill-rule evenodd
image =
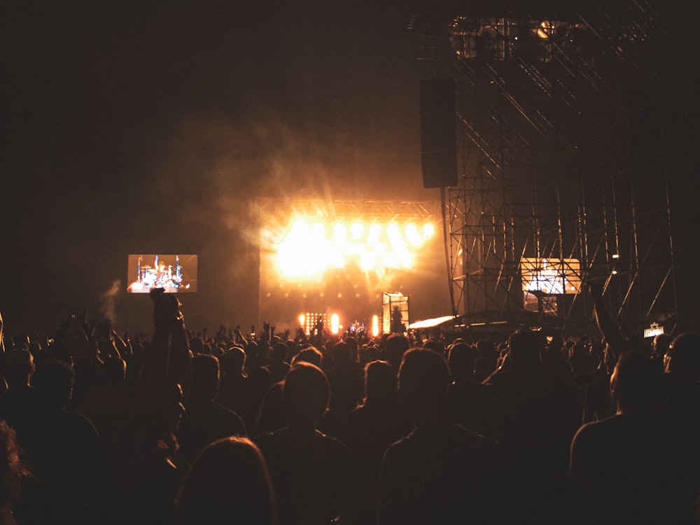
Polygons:
<instances>
[{"instance_id":1,"label":"orange-rimmed long-haired head cut off by the bottom edge","mask_svg":"<svg viewBox=\"0 0 700 525\"><path fill-rule=\"evenodd\" d=\"M246 437L209 444L176 498L178 525L273 525L274 508L265 459Z\"/></svg>"}]
</instances>

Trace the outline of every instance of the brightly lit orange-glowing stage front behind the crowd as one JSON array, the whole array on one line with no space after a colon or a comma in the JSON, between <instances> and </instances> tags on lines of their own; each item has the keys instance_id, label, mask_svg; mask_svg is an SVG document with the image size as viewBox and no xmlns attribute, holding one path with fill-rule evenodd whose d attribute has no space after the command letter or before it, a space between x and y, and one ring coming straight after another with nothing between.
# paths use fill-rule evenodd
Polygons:
<instances>
[{"instance_id":1,"label":"brightly lit orange-glowing stage front behind the crowd","mask_svg":"<svg viewBox=\"0 0 700 525\"><path fill-rule=\"evenodd\" d=\"M369 326L385 292L410 297L411 321L449 313L439 202L260 207L262 321L293 330L300 314L337 314Z\"/></svg>"}]
</instances>

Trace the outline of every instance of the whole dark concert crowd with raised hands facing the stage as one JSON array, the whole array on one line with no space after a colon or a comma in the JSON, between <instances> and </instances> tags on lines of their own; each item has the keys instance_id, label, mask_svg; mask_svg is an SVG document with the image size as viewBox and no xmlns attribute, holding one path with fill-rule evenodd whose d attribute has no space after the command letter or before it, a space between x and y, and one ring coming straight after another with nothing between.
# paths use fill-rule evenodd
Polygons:
<instances>
[{"instance_id":1,"label":"whole dark concert crowd with raised hands facing the stage","mask_svg":"<svg viewBox=\"0 0 700 525\"><path fill-rule=\"evenodd\" d=\"M697 524L700 335L0 323L2 524ZM322 328L322 327L319 327Z\"/></svg>"}]
</instances>

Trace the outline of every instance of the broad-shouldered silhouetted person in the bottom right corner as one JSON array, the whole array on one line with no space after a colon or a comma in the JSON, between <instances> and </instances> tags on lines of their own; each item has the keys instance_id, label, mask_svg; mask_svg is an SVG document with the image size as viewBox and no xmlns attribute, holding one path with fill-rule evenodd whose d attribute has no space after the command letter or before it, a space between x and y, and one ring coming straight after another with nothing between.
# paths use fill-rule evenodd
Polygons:
<instances>
[{"instance_id":1,"label":"broad-shouldered silhouetted person in the bottom right corner","mask_svg":"<svg viewBox=\"0 0 700 525\"><path fill-rule=\"evenodd\" d=\"M698 442L685 416L659 399L652 360L624 353L610 381L617 414L588 423L571 444L575 518L595 524L696 524Z\"/></svg>"}]
</instances>

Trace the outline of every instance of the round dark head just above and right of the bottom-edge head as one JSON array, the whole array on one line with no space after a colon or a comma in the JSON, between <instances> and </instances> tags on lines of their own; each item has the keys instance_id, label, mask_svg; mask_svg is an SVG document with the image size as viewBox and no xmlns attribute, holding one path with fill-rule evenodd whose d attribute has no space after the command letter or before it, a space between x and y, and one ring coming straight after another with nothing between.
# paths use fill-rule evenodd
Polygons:
<instances>
[{"instance_id":1,"label":"round dark head just above and right of the bottom-edge head","mask_svg":"<svg viewBox=\"0 0 700 525\"><path fill-rule=\"evenodd\" d=\"M328 379L311 363L293 365L283 386L284 404L290 423L312 423L328 408Z\"/></svg>"}]
</instances>

